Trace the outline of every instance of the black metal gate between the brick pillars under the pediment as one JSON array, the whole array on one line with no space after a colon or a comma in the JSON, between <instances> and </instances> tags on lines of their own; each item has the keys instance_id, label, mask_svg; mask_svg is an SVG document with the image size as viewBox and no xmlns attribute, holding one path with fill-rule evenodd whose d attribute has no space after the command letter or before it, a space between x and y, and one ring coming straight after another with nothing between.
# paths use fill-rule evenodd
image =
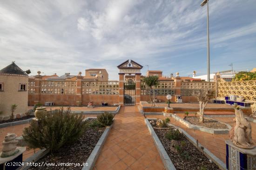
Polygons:
<instances>
[{"instance_id":1,"label":"black metal gate between the brick pillars under the pediment","mask_svg":"<svg viewBox=\"0 0 256 170\"><path fill-rule=\"evenodd\" d=\"M135 105L135 82L124 83L124 105Z\"/></svg>"}]
</instances>

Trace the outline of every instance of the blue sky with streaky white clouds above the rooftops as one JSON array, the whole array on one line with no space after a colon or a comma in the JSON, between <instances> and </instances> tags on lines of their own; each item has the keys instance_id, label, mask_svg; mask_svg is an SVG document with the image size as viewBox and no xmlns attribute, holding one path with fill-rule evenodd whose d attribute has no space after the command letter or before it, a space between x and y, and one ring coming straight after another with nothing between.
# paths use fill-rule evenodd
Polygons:
<instances>
[{"instance_id":1,"label":"blue sky with streaky white clouds above the rooftops","mask_svg":"<svg viewBox=\"0 0 256 170\"><path fill-rule=\"evenodd\" d=\"M163 75L207 73L202 0L0 0L0 69L30 75L105 68L128 59ZM256 1L209 0L210 72L256 67ZM148 66L146 66L148 65Z\"/></svg>"}]
</instances>

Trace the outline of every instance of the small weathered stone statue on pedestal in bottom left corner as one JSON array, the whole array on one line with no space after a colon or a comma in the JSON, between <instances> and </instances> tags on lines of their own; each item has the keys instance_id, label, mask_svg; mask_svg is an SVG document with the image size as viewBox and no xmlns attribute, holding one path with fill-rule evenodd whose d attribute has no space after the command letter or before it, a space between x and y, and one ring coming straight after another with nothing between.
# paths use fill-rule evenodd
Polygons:
<instances>
[{"instance_id":1,"label":"small weathered stone statue on pedestal in bottom left corner","mask_svg":"<svg viewBox=\"0 0 256 170\"><path fill-rule=\"evenodd\" d=\"M2 154L1 157L10 157L15 155L16 153L19 152L18 149L16 149L17 144L18 144L18 140L16 139L16 134L15 133L7 133L2 145L3 149L2 149Z\"/></svg>"}]
</instances>

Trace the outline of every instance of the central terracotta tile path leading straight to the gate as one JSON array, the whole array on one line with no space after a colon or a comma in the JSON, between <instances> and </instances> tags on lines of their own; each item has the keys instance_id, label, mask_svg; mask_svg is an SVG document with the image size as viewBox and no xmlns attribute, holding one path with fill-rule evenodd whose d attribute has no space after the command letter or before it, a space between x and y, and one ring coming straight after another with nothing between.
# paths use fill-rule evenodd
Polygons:
<instances>
[{"instance_id":1,"label":"central terracotta tile path leading straight to the gate","mask_svg":"<svg viewBox=\"0 0 256 170\"><path fill-rule=\"evenodd\" d=\"M94 170L164 170L137 107L121 107Z\"/></svg>"}]
</instances>

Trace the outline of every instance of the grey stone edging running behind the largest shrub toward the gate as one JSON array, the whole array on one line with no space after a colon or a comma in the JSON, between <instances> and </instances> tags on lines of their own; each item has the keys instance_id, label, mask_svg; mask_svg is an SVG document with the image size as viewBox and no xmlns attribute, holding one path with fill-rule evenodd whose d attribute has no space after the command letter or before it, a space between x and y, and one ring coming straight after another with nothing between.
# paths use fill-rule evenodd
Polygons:
<instances>
[{"instance_id":1,"label":"grey stone edging running behind the largest shrub toward the gate","mask_svg":"<svg viewBox=\"0 0 256 170\"><path fill-rule=\"evenodd\" d=\"M120 110L120 105L115 109L115 111L110 111L108 113L112 113L112 114L118 114L119 113L119 110ZM82 114L85 114L85 115L90 115L90 114L102 114L104 113L104 111L86 111L86 112L83 112L83 111L74 111L71 113L82 113ZM16 126L16 125L21 125L21 124L26 124L26 123L29 123L33 118L30 118L30 119L26 119L26 120L19 120L19 121L14 121L14 122L7 122L7 123L2 123L0 124L0 128L2 127L8 127L8 126Z\"/></svg>"}]
</instances>

